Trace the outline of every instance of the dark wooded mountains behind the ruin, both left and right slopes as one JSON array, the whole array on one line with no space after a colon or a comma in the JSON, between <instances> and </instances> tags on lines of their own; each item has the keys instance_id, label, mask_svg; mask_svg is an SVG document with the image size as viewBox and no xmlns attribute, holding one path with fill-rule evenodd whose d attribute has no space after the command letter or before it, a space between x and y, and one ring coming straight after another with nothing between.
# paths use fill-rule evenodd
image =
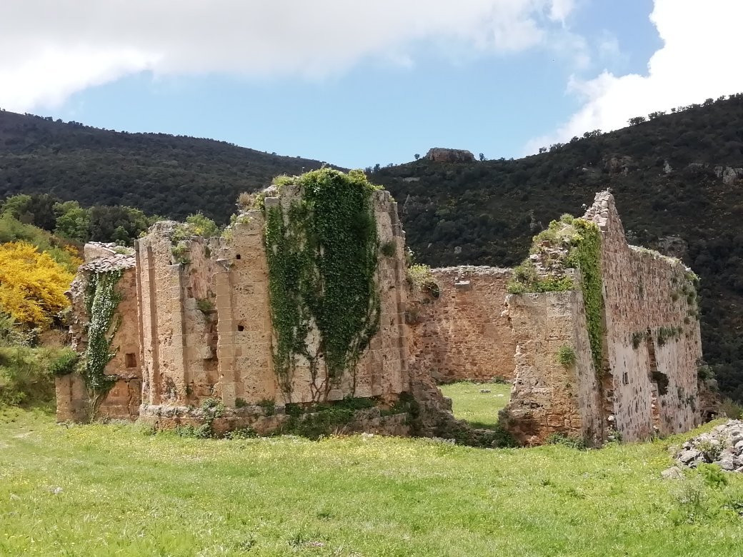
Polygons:
<instances>
[{"instance_id":1,"label":"dark wooded mountains behind the ruin, both left and right slopes","mask_svg":"<svg viewBox=\"0 0 743 557\"><path fill-rule=\"evenodd\" d=\"M670 248L701 276L705 358L722 391L743 400L743 96L682 108L519 160L421 159L371 179L398 200L410 247L432 266L512 266L549 221L582 215L610 187L633 243ZM173 218L201 210L224 223L239 192L319 165L0 112L0 198L45 192Z\"/></svg>"}]
</instances>

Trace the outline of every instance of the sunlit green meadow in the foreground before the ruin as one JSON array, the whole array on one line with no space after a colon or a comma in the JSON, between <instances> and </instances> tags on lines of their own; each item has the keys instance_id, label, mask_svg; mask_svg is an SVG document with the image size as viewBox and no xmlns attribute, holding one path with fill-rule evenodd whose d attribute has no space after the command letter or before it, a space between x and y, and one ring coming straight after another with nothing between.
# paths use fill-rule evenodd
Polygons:
<instances>
[{"instance_id":1,"label":"sunlit green meadow in the foreground before the ruin","mask_svg":"<svg viewBox=\"0 0 743 557\"><path fill-rule=\"evenodd\" d=\"M197 440L6 409L0 555L741 555L739 476L660 478L686 437L587 452Z\"/></svg>"}]
</instances>

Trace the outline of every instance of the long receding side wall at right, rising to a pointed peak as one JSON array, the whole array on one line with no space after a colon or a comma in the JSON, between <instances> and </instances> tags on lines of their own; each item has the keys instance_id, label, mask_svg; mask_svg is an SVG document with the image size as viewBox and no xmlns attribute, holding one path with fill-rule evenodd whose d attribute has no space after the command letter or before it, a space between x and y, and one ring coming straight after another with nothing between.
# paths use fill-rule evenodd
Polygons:
<instances>
[{"instance_id":1,"label":"long receding side wall at right, rising to a pointed peak","mask_svg":"<svg viewBox=\"0 0 743 557\"><path fill-rule=\"evenodd\" d=\"M614 427L625 440L688 431L701 423L701 339L688 270L681 261L629 246L609 192L597 194L586 218L602 232L611 374L605 394Z\"/></svg>"}]
</instances>

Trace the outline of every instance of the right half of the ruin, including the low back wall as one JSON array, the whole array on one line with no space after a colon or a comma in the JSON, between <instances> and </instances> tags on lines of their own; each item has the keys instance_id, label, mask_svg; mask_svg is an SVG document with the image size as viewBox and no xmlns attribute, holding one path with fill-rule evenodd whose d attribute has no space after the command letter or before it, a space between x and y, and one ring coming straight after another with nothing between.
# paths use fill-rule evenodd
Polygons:
<instances>
[{"instance_id":1,"label":"right half of the ruin, including the low back wall","mask_svg":"<svg viewBox=\"0 0 743 557\"><path fill-rule=\"evenodd\" d=\"M560 261L568 247L538 241L529 258L536 275L571 287L509 293L518 269L433 270L435 296L419 291L409 304L412 360L438 382L512 382L501 421L524 444L566 434L595 446L698 426L716 411L716 395L704 378L696 277L678 259L627 244L609 192L583 221L600 234L598 358L583 278ZM561 350L569 361L559 361Z\"/></svg>"}]
</instances>

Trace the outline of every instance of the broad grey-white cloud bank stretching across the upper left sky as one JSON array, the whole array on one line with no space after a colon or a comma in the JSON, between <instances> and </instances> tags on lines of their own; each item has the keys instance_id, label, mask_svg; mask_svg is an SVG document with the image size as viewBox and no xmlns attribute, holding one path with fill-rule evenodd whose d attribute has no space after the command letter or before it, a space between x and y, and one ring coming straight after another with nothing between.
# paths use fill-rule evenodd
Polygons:
<instances>
[{"instance_id":1,"label":"broad grey-white cloud bank stretching across the upper left sky","mask_svg":"<svg viewBox=\"0 0 743 557\"><path fill-rule=\"evenodd\" d=\"M544 45L574 0L4 0L0 105L50 107L138 71L323 76L416 42ZM400 62L398 62L400 63Z\"/></svg>"}]
</instances>

